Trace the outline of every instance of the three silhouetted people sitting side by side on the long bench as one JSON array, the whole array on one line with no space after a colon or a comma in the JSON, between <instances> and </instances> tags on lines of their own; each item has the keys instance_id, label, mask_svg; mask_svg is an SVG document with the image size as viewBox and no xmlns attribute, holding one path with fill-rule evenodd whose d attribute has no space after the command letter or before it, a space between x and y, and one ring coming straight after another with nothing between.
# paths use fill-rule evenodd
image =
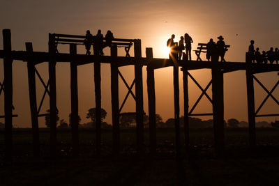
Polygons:
<instances>
[{"instance_id":1,"label":"three silhouetted people sitting side by side on the long bench","mask_svg":"<svg viewBox=\"0 0 279 186\"><path fill-rule=\"evenodd\" d=\"M86 55L90 55L91 45L93 45L93 54L103 56L103 48L110 47L112 45L112 40L114 39L112 31L108 30L107 34L105 35L105 42L104 36L99 29L96 36L93 36L89 30L86 31L84 45L86 49Z\"/></svg>"}]
</instances>

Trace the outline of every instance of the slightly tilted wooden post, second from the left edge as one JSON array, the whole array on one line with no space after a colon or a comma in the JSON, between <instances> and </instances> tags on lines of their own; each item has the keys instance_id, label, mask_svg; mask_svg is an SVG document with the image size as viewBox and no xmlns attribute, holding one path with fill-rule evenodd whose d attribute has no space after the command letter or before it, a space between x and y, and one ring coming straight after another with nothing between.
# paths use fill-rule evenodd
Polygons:
<instances>
[{"instance_id":1,"label":"slightly tilted wooden post, second from the left edge","mask_svg":"<svg viewBox=\"0 0 279 186\"><path fill-rule=\"evenodd\" d=\"M29 102L31 110L32 123L32 137L33 137L33 156L40 156L40 139L39 139L39 125L38 125L38 109L36 96L36 78L35 65L33 61L33 47L32 42L25 42L25 47L28 53L27 70L28 70L28 84L29 84Z\"/></svg>"}]
</instances>

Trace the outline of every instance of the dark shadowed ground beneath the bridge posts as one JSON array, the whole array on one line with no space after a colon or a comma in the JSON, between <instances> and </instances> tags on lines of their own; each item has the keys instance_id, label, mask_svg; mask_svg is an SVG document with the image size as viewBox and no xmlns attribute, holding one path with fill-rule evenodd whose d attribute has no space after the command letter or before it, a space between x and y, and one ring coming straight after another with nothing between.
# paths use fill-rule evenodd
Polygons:
<instances>
[{"instance_id":1,"label":"dark shadowed ground beneath the bridge posts","mask_svg":"<svg viewBox=\"0 0 279 186\"><path fill-rule=\"evenodd\" d=\"M279 130L257 129L257 148L248 148L248 130L226 130L223 158L213 153L213 131L191 130L191 153L176 159L174 130L158 130L156 157L135 153L135 129L121 131L121 154L111 155L112 132L103 132L101 157L94 153L94 131L81 130L81 155L71 157L70 131L59 130L59 157L48 154L49 131L41 130L41 157L33 159L31 130L15 130L14 160L3 161L1 185L279 185ZM183 139L183 134L182 137ZM182 141L181 139L181 141Z\"/></svg>"}]
</instances>

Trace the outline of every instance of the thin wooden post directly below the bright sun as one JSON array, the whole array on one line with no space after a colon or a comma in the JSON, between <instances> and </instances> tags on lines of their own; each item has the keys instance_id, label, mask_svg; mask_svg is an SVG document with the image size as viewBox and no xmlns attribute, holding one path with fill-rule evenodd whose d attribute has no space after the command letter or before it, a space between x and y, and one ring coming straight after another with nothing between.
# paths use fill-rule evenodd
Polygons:
<instances>
[{"instance_id":1,"label":"thin wooden post directly below the bright sun","mask_svg":"<svg viewBox=\"0 0 279 186\"><path fill-rule=\"evenodd\" d=\"M179 122L179 65L174 64L174 127L176 156L181 155L180 122Z\"/></svg>"}]
</instances>

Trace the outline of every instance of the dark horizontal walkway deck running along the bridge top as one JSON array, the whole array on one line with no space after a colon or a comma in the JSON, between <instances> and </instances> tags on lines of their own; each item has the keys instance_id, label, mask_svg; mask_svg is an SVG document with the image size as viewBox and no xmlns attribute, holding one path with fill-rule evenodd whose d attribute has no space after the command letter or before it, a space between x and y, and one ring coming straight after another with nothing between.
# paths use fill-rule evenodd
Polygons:
<instances>
[{"instance_id":1,"label":"dark horizontal walkway deck running along the bridge top","mask_svg":"<svg viewBox=\"0 0 279 186\"><path fill-rule=\"evenodd\" d=\"M25 51L12 51L11 52L13 60L27 61L29 55ZM3 59L3 50L0 50L0 59ZM49 54L47 52L33 52L32 61L36 64L49 61ZM85 55L85 54L66 54L59 53L56 54L57 62L70 62L77 61L78 65L84 65L88 63L100 62L100 63L112 63L116 62L119 66L124 65L135 65L135 63L142 63L142 65L150 65L152 68L165 68L173 66L173 63L169 59L146 59L141 58L140 61L134 57L124 57L124 56L97 56L97 55ZM224 72L232 72L236 70L247 70L248 64L245 62L218 62L214 63L211 61L178 61L179 66L188 68L188 70L202 69L202 68L213 68L216 65L220 65L220 68ZM252 67L255 72L271 72L279 71L279 65L277 64L259 64L252 63L249 68Z\"/></svg>"}]
</instances>

